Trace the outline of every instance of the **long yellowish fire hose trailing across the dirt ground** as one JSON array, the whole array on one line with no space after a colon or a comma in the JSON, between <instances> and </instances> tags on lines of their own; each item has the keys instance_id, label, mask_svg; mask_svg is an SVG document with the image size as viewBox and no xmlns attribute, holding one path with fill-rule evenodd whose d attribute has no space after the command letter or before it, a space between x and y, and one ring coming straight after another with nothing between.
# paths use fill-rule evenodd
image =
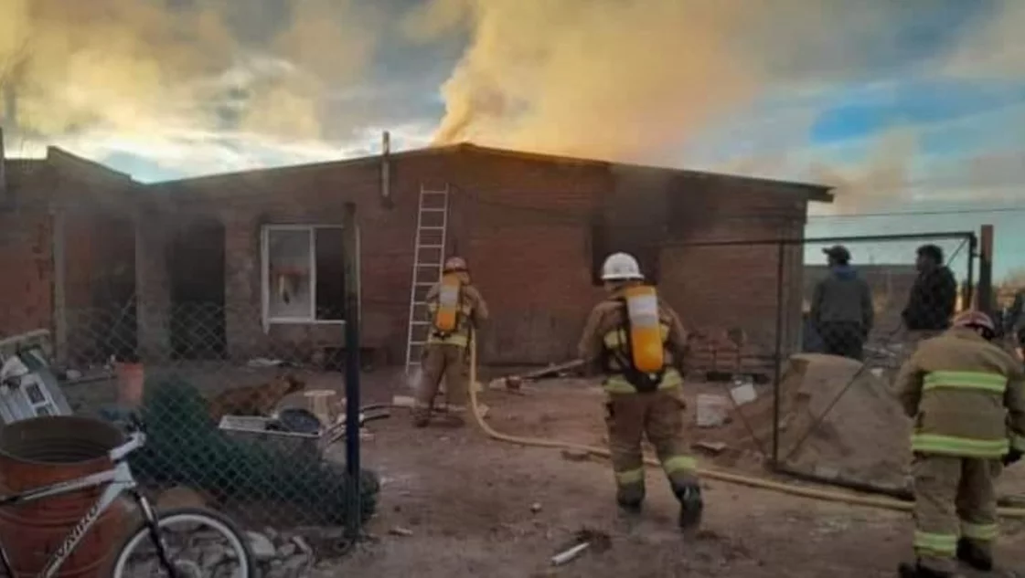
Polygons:
<instances>
[{"instance_id":1,"label":"long yellowish fire hose trailing across the dirt ground","mask_svg":"<svg viewBox=\"0 0 1025 578\"><path fill-rule=\"evenodd\" d=\"M587 452L589 454L600 455L607 458L611 457L609 450L603 447L588 446L584 444L576 444L572 442L563 442L558 440L548 440L544 438L510 436L508 434L502 434L501 432L497 432L495 431L494 428L489 426L487 421L484 420L484 417L481 415L481 406L478 403L478 398L477 398L476 336L470 336L469 340L469 406L474 414L474 420L477 423L477 426L485 434L487 434L493 439L524 446L569 449L580 452ZM651 466L660 466L657 460L650 457L645 458L645 464ZM764 478L743 476L740 474L732 474L729 472L723 472L721 470L699 469L697 471L697 475L702 479L716 480L728 484L747 486L750 488L757 488L761 490L768 490L771 492L779 492L793 496L812 498L823 501L847 503L851 505L862 505L867 507L876 507L876 508L891 509L896 512L911 512L912 508L914 507L913 502L906 502L885 497L849 494L832 490L825 490L821 488L810 488L807 486L796 486L793 484L766 480ZM1025 508L1021 507L998 507L997 514L1003 518L1025 519Z\"/></svg>"}]
</instances>

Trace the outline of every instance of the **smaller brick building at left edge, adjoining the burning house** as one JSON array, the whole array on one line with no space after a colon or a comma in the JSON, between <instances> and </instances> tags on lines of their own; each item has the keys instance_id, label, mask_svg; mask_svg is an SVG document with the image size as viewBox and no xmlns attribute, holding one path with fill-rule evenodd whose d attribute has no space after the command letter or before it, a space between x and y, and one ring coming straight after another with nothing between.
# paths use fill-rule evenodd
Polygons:
<instances>
[{"instance_id":1,"label":"smaller brick building at left edge, adjoining the burning house","mask_svg":"<svg viewBox=\"0 0 1025 578\"><path fill-rule=\"evenodd\" d=\"M48 329L60 357L89 360L134 348L137 183L56 147L0 147L0 337Z\"/></svg>"}]
</instances>

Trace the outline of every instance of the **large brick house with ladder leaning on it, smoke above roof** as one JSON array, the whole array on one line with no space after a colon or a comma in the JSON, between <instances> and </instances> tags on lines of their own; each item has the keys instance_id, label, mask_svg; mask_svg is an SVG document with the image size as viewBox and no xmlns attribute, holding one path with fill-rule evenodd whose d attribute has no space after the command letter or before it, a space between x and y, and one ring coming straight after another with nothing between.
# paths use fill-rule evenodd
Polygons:
<instances>
[{"instance_id":1,"label":"large brick house with ladder leaning on it, smoke above roof","mask_svg":"<svg viewBox=\"0 0 1025 578\"><path fill-rule=\"evenodd\" d=\"M492 309L482 358L497 364L572 358L602 295L598 268L618 250L639 256L690 326L739 327L771 347L782 297L795 343L802 248L765 241L802 237L808 204L832 198L818 185L471 144L159 183L139 209L144 345L236 359L338 347L339 225L353 202L364 344L403 361L421 188L450 191L444 253L469 261ZM175 330L189 315L210 329Z\"/></svg>"}]
</instances>

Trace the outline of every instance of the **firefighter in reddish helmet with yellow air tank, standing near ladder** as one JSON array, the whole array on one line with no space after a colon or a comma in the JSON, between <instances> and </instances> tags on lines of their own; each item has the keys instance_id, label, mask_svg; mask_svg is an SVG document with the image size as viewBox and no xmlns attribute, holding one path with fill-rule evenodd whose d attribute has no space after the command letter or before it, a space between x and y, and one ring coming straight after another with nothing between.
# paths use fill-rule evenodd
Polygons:
<instances>
[{"instance_id":1,"label":"firefighter in reddish helmet with yellow air tank, standing near ladder","mask_svg":"<svg viewBox=\"0 0 1025 578\"><path fill-rule=\"evenodd\" d=\"M427 292L429 328L420 359L422 379L413 408L413 425L424 428L430 421L442 377L449 411L457 426L469 398L468 346L470 329L488 318L488 306L470 284L469 269L461 257L451 257L442 270L442 280Z\"/></svg>"}]
</instances>

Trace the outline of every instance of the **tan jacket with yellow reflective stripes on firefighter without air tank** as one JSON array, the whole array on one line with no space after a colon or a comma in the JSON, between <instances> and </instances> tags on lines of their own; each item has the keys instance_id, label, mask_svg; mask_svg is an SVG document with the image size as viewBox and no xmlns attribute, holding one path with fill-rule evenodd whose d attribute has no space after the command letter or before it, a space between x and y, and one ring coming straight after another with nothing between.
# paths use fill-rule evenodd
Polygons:
<instances>
[{"instance_id":1,"label":"tan jacket with yellow reflective stripes on firefighter without air tank","mask_svg":"<svg viewBox=\"0 0 1025 578\"><path fill-rule=\"evenodd\" d=\"M921 342L897 388L914 419L912 451L995 459L1009 446L1025 450L1021 363L972 329Z\"/></svg>"}]
</instances>

